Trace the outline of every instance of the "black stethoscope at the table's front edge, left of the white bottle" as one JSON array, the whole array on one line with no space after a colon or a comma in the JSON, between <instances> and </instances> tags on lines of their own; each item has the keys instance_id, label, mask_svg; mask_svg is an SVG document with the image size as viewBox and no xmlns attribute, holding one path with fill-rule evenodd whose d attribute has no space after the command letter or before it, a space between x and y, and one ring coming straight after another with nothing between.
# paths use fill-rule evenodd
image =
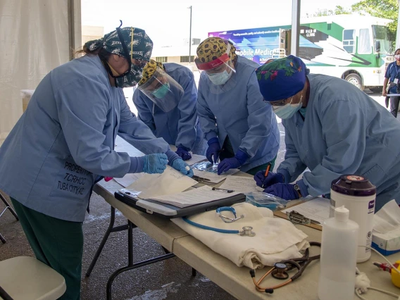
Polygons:
<instances>
[{"instance_id":1,"label":"black stethoscope at the table's front edge, left of the white bottle","mask_svg":"<svg viewBox=\"0 0 400 300\"><path fill-rule=\"evenodd\" d=\"M310 246L320 247L321 243L310 242ZM285 287L285 285L289 285L290 282L294 282L294 280L296 280L301 276L301 274L303 274L308 265L312 261L316 261L317 259L320 259L320 254L310 256L310 248L307 248L304 252L304 256L301 258L286 259L284 261L280 261L279 263L275 263L274 267L270 269L267 273L265 273L263 277L261 277L258 281L256 281L256 269L250 270L250 275L253 278L254 285L256 286L258 292L272 294L274 292L274 289ZM297 272L289 278L289 273L287 272L293 269L297 269ZM261 282L265 279L265 277L270 274L276 279L286 281L282 282L280 285L274 285L273 287L261 287Z\"/></svg>"}]
</instances>

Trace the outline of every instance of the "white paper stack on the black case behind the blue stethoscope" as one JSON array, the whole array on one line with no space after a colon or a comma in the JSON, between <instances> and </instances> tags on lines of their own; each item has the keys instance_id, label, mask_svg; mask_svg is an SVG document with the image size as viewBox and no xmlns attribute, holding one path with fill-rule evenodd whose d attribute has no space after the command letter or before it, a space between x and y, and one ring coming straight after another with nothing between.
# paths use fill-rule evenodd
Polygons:
<instances>
[{"instance_id":1,"label":"white paper stack on the black case behind the blue stethoscope","mask_svg":"<svg viewBox=\"0 0 400 300\"><path fill-rule=\"evenodd\" d=\"M240 193L239 192L227 193L221 190L213 190L212 187L204 185L203 187L192 189L187 192L170 194L167 196L156 196L156 197L151 197L151 199L182 208L182 207L192 206L195 204L201 204L219 199L224 199L229 196L235 196L237 194Z\"/></svg>"}]
</instances>

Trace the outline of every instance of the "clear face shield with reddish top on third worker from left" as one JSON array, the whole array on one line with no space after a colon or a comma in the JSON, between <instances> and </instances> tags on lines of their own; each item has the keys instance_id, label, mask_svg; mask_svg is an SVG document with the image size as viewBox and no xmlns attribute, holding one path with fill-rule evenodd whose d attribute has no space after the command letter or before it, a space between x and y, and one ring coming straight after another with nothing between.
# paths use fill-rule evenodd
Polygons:
<instances>
[{"instance_id":1,"label":"clear face shield with reddish top on third worker from left","mask_svg":"<svg viewBox=\"0 0 400 300\"><path fill-rule=\"evenodd\" d=\"M229 57L230 49L231 45L228 43L225 54L208 63L201 63L199 58L196 58L194 62L202 71L201 77L207 76L214 85L224 85L233 73L236 73L235 66Z\"/></svg>"}]
</instances>

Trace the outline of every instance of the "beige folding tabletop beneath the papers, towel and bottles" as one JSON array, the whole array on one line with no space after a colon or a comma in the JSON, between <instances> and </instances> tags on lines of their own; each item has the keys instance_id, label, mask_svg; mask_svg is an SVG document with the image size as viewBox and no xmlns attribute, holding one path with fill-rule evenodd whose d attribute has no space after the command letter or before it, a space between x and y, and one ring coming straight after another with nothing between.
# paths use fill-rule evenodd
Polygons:
<instances>
[{"instance_id":1,"label":"beige folding tabletop beneath the papers, towel and bottles","mask_svg":"<svg viewBox=\"0 0 400 300\"><path fill-rule=\"evenodd\" d=\"M115 150L117 151L126 151L131 156L143 155L120 138L117 139L116 144ZM103 196L109 204L123 213L125 218L131 220L132 223L155 239L156 242L169 251L172 251L177 257L181 258L182 261L185 261L185 263L192 266L192 268L199 270L199 272L206 275L210 280L215 282L215 284L225 289L237 299L268 299L270 295L256 291L251 276L249 275L249 268L237 267L237 265L227 258L216 254L194 237L187 235L185 231L170 222L170 220L142 213L118 201L114 197L114 192L120 188L122 187L114 180L110 182L104 182L104 180L102 180L96 185L94 191L100 196ZM321 232L319 230L301 225L297 225L297 227L308 235L309 241L320 242ZM311 255L312 254L313 253L311 253ZM387 256L387 258L394 263L400 260L400 253ZM361 272L365 272L368 275L373 287L400 294L400 289L392 284L389 273L378 270L377 267L372 264L373 261L383 262L382 258L373 253L369 261L359 263L357 266ZM264 272L265 270L258 270L258 272L256 272L256 278L261 277ZM316 261L308 265L308 268L306 268L299 279L286 287L276 289L273 296L280 300L318 299L318 275L319 263ZM268 286L271 282L276 281L277 280L273 278L271 279L271 277L265 280ZM393 299L391 296L378 294L375 291L369 291L365 294L365 297L367 299L380 300ZM354 296L354 299L358 298Z\"/></svg>"}]
</instances>

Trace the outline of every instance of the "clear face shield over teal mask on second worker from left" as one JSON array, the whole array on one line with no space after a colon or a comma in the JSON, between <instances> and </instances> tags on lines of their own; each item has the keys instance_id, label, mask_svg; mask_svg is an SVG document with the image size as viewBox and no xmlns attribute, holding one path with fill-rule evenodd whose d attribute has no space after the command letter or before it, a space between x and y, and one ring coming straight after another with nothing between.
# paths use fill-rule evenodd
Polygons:
<instances>
[{"instance_id":1,"label":"clear face shield over teal mask on second worker from left","mask_svg":"<svg viewBox=\"0 0 400 300\"><path fill-rule=\"evenodd\" d=\"M180 84L158 67L153 76L137 88L165 113L177 106L184 93Z\"/></svg>"}]
</instances>

